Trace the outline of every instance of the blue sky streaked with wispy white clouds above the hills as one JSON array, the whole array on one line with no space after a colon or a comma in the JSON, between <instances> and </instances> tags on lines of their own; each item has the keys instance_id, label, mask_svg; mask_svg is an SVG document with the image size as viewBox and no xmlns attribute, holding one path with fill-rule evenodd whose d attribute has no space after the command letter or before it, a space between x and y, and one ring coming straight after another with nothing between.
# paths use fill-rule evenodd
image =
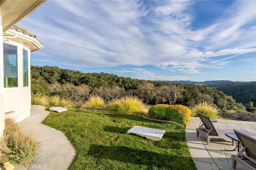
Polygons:
<instances>
[{"instance_id":1,"label":"blue sky streaked with wispy white clouds above the hills","mask_svg":"<svg viewBox=\"0 0 256 170\"><path fill-rule=\"evenodd\" d=\"M48 0L31 64L143 80L256 81L256 1Z\"/></svg>"}]
</instances>

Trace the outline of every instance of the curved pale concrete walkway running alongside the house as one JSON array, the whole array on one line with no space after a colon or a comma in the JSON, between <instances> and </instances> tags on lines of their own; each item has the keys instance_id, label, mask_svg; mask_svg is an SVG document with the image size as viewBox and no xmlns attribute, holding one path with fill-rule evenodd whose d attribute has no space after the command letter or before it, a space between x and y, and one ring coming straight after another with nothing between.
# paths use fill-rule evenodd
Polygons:
<instances>
[{"instance_id":1,"label":"curved pale concrete walkway running alongside the house","mask_svg":"<svg viewBox=\"0 0 256 170\"><path fill-rule=\"evenodd\" d=\"M18 122L23 133L38 141L38 155L28 169L67 170L76 156L76 149L66 135L41 122L50 113L44 106L31 106L31 115Z\"/></svg>"}]
</instances>

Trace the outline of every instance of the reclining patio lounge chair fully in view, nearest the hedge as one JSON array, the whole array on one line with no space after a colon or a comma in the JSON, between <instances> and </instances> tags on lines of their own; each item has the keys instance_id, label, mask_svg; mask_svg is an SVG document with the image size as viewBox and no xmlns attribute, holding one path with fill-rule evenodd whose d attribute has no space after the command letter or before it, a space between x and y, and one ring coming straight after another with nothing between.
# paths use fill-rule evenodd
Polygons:
<instances>
[{"instance_id":1,"label":"reclining patio lounge chair fully in view, nearest the hedge","mask_svg":"<svg viewBox=\"0 0 256 170\"><path fill-rule=\"evenodd\" d=\"M202 125L196 128L196 136L198 137L199 133L202 133L203 135L205 135L206 145L210 144L211 138L223 139L223 138L227 138L225 133L234 133L233 129L215 129L210 117L202 113L197 113L197 114L202 121ZM232 139L232 144L234 145L233 139Z\"/></svg>"}]
</instances>

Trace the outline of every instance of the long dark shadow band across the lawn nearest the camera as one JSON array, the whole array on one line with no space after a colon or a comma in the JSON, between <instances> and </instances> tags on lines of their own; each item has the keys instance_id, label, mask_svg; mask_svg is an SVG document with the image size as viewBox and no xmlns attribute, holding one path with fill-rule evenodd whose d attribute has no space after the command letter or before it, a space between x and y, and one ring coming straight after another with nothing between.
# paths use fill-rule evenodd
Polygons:
<instances>
[{"instance_id":1,"label":"long dark shadow band across the lawn nearest the camera","mask_svg":"<svg viewBox=\"0 0 256 170\"><path fill-rule=\"evenodd\" d=\"M158 168L175 169L175 166L178 165L178 167L188 169L190 166L193 166L192 158L172 156L171 154L160 154L147 150L131 149L123 146L90 145L88 155L95 158L117 160L132 164L143 164L147 165L148 168L157 166Z\"/></svg>"}]
</instances>

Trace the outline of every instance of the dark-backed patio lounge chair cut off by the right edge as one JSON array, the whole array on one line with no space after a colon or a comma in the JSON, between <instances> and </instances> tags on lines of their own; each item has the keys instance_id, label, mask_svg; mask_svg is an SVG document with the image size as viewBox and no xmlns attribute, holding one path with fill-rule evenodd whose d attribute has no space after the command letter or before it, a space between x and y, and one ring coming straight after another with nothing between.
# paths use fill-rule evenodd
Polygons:
<instances>
[{"instance_id":1,"label":"dark-backed patio lounge chair cut off by the right edge","mask_svg":"<svg viewBox=\"0 0 256 170\"><path fill-rule=\"evenodd\" d=\"M234 130L242 145L242 150L232 155L232 167L236 169L236 162L245 166L248 170L256 170L256 138L251 137L239 130Z\"/></svg>"}]
</instances>

